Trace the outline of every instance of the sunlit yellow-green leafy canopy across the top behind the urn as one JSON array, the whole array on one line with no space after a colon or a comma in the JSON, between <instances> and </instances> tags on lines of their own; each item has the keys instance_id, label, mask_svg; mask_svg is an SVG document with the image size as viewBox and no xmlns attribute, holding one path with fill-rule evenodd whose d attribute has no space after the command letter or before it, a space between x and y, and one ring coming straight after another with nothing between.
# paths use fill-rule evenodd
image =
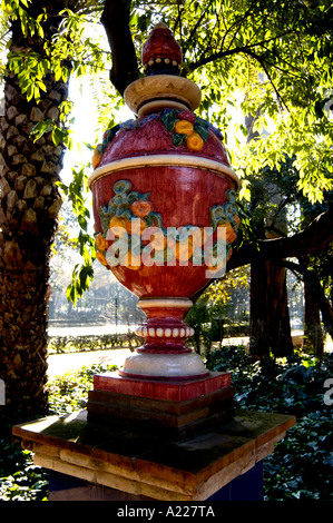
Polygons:
<instances>
[{"instance_id":1,"label":"sunlit yellow-green leafy canopy across the top behind the urn","mask_svg":"<svg viewBox=\"0 0 333 523\"><path fill-rule=\"evenodd\" d=\"M47 2L40 2L36 11L30 9L36 8L33 0L2 0L0 43L7 41L3 28L9 19L20 20L23 34L35 34L43 42L42 57L18 49L8 55L9 68L18 73L27 99L38 100L48 72L65 81L69 73L91 75L101 79L97 83L100 90L96 85L94 88L100 97L99 121L114 125L121 100L111 85L105 88L110 52L105 43L101 47L86 34L87 24L97 24L104 4L112 2L66 2L61 21L49 38L45 32L49 12L42 9ZM298 172L297 189L312 203L323 200L323 191L332 189L333 171L330 0L121 2L130 11L138 62L155 23L164 21L174 31L183 48L182 75L202 87L198 112L222 131L233 167L243 180L241 197L251 198L254 175L265 167L278 169L288 157ZM121 56L121 48L112 51ZM251 140L244 125L248 115L255 117ZM69 131L65 126L55 128L52 121L38 124L33 132L38 138L50 129L56 144L62 140L70 145ZM102 130L98 129L97 136Z\"/></svg>"}]
</instances>

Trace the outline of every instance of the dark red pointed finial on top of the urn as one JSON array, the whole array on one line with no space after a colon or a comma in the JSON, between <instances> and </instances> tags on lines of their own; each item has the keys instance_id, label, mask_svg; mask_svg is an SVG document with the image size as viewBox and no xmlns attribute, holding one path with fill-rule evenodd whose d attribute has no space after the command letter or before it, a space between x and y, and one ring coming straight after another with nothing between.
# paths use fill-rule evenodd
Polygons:
<instances>
[{"instance_id":1,"label":"dark red pointed finial on top of the urn","mask_svg":"<svg viewBox=\"0 0 333 523\"><path fill-rule=\"evenodd\" d=\"M157 23L143 48L145 75L179 75L180 65L179 43L165 23Z\"/></svg>"}]
</instances>

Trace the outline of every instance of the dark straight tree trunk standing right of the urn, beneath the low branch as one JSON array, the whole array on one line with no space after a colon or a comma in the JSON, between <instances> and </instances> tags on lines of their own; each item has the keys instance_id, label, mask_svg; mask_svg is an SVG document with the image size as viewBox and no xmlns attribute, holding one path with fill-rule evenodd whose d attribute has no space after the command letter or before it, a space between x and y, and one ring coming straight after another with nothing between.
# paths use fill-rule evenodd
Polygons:
<instances>
[{"instance_id":1,"label":"dark straight tree trunk standing right of the urn, beneath the low branch","mask_svg":"<svg viewBox=\"0 0 333 523\"><path fill-rule=\"evenodd\" d=\"M286 270L274 262L251 265L249 352L265 358L293 354Z\"/></svg>"}]
</instances>

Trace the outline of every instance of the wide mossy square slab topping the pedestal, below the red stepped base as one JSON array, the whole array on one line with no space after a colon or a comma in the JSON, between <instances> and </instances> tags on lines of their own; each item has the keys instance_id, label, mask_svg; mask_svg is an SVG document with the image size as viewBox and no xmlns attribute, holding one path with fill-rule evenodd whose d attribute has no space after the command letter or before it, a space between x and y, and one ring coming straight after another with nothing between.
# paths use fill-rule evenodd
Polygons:
<instances>
[{"instance_id":1,"label":"wide mossy square slab topping the pedestal, below the red stepped base","mask_svg":"<svg viewBox=\"0 0 333 523\"><path fill-rule=\"evenodd\" d=\"M232 421L194 437L87 421L87 412L13 427L36 465L133 496L208 500L274 451L293 416L239 411Z\"/></svg>"}]
</instances>

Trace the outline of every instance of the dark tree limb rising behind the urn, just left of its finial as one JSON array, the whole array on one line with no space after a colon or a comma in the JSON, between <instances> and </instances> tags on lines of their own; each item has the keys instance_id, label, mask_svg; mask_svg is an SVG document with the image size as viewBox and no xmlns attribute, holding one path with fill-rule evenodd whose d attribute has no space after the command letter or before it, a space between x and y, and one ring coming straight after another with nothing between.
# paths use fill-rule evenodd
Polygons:
<instances>
[{"instance_id":1,"label":"dark tree limb rising behind the urn, just left of its finial","mask_svg":"<svg viewBox=\"0 0 333 523\"><path fill-rule=\"evenodd\" d=\"M106 0L100 21L106 30L112 56L110 80L124 95L126 87L139 78L139 68L129 30L130 0Z\"/></svg>"}]
</instances>

